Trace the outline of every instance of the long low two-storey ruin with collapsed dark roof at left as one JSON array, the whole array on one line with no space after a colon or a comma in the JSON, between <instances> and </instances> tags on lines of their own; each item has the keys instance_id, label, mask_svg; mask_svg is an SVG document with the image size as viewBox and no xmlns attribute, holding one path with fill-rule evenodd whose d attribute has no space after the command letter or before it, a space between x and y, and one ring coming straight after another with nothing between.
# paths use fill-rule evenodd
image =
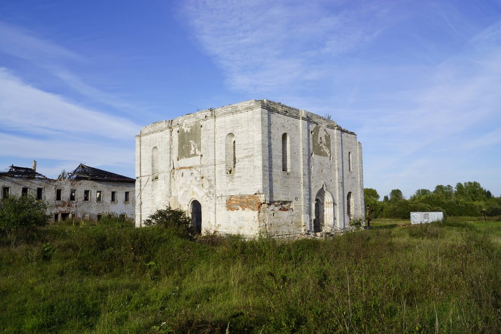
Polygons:
<instances>
[{"instance_id":1,"label":"long low two-storey ruin with collapsed dark roof at left","mask_svg":"<svg viewBox=\"0 0 501 334\"><path fill-rule=\"evenodd\" d=\"M0 172L2 197L32 195L48 203L51 221L67 219L100 220L114 214L134 219L133 178L80 164L68 179L54 180L32 168L12 165Z\"/></svg>"}]
</instances>

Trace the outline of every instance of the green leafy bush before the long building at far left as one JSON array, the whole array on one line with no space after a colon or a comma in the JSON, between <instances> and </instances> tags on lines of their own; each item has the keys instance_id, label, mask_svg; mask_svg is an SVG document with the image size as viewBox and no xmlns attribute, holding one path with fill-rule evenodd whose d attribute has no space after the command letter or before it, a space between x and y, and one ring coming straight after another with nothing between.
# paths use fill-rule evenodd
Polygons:
<instances>
[{"instance_id":1,"label":"green leafy bush before the long building at far left","mask_svg":"<svg viewBox=\"0 0 501 334\"><path fill-rule=\"evenodd\" d=\"M0 201L0 231L12 233L37 226L44 226L50 215L47 202L35 197L10 195Z\"/></svg>"}]
</instances>

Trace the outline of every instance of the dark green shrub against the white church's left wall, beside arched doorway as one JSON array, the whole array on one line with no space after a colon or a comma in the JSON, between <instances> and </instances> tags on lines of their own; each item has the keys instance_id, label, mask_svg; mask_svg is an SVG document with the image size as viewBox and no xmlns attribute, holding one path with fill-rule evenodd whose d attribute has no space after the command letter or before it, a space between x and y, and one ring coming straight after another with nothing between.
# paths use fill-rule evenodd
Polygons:
<instances>
[{"instance_id":1,"label":"dark green shrub against the white church's left wall, beside arched doorway","mask_svg":"<svg viewBox=\"0 0 501 334\"><path fill-rule=\"evenodd\" d=\"M172 230L178 236L185 239L193 239L195 230L191 226L191 219L186 216L186 212L181 209L165 209L156 210L143 221L145 226L162 226Z\"/></svg>"}]
</instances>

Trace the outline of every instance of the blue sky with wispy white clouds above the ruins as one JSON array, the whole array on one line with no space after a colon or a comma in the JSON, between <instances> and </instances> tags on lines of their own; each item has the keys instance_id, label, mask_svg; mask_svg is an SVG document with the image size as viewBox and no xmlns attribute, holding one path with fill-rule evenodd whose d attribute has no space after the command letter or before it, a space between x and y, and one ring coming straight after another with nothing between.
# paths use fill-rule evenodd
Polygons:
<instances>
[{"instance_id":1,"label":"blue sky with wispy white clouds above the ruins","mask_svg":"<svg viewBox=\"0 0 501 334\"><path fill-rule=\"evenodd\" d=\"M141 127L246 100L357 134L364 187L501 196L501 0L0 0L0 169L135 177Z\"/></svg>"}]
</instances>

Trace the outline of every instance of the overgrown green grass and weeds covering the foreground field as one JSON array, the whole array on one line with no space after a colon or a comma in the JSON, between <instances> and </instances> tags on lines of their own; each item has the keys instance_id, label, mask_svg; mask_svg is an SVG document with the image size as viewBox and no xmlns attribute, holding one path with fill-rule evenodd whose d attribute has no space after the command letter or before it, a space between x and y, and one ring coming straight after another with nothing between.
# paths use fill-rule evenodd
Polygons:
<instances>
[{"instance_id":1,"label":"overgrown green grass and weeds covering the foreground field","mask_svg":"<svg viewBox=\"0 0 501 334\"><path fill-rule=\"evenodd\" d=\"M53 224L0 238L0 329L500 332L500 238L457 218L293 242Z\"/></svg>"}]
</instances>

